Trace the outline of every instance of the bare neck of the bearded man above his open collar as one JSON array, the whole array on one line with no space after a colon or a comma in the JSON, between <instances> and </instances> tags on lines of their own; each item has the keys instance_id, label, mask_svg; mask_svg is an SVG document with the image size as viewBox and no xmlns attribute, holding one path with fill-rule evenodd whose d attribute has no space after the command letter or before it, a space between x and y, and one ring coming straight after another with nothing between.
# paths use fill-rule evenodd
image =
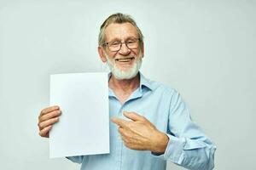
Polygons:
<instances>
[{"instance_id":1,"label":"bare neck of the bearded man above his open collar","mask_svg":"<svg viewBox=\"0 0 256 170\"><path fill-rule=\"evenodd\" d=\"M127 80L118 80L113 75L109 79L109 88L113 89L113 91L119 91L123 93L131 93L136 90L140 85L140 77L137 74L136 77Z\"/></svg>"}]
</instances>

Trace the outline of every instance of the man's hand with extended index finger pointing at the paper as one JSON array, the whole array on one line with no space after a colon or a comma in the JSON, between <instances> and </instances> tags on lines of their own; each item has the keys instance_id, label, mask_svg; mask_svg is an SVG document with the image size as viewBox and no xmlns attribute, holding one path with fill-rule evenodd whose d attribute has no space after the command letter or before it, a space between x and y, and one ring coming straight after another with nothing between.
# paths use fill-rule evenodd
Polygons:
<instances>
[{"instance_id":1,"label":"man's hand with extended index finger pointing at the paper","mask_svg":"<svg viewBox=\"0 0 256 170\"><path fill-rule=\"evenodd\" d=\"M151 150L154 153L164 153L169 138L161 133L143 116L134 112L124 112L124 116L132 121L125 121L117 117L112 122L119 126L119 133L125 146L132 150Z\"/></svg>"}]
</instances>

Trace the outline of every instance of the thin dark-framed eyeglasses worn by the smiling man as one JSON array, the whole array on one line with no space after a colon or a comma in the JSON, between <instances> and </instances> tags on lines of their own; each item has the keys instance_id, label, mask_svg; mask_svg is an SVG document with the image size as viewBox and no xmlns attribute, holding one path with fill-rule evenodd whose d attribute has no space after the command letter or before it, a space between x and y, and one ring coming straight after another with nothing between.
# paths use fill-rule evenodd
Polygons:
<instances>
[{"instance_id":1,"label":"thin dark-framed eyeglasses worn by the smiling man","mask_svg":"<svg viewBox=\"0 0 256 170\"><path fill-rule=\"evenodd\" d=\"M117 52L122 48L123 43L125 43L126 47L129 49L136 49L139 46L139 40L140 38L130 38L126 40L125 42L121 41L113 41L113 42L105 42L102 45L108 46L108 49L112 52Z\"/></svg>"}]
</instances>

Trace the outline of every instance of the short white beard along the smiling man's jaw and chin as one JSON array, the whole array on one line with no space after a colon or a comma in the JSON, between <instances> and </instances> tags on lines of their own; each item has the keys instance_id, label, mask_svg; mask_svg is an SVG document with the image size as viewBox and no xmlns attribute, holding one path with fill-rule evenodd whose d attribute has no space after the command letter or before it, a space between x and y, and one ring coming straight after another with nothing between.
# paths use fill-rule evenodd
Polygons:
<instances>
[{"instance_id":1,"label":"short white beard along the smiling man's jaw and chin","mask_svg":"<svg viewBox=\"0 0 256 170\"><path fill-rule=\"evenodd\" d=\"M143 54L140 52L140 54L138 54L138 57L135 58L135 63L133 65L133 67L129 70L122 71L115 64L114 59L110 59L108 54L106 54L105 52L104 52L104 54L107 57L107 63L108 63L109 70L112 72L113 77L115 77L118 80L125 80L125 79L131 79L133 77L136 77L139 69L141 68L141 66L143 64Z\"/></svg>"}]
</instances>

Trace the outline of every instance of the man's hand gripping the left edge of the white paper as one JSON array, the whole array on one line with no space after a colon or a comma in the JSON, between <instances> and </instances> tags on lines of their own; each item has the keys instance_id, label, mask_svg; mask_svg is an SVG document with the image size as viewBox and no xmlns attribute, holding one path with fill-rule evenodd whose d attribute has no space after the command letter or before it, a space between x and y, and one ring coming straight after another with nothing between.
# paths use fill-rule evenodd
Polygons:
<instances>
[{"instance_id":1,"label":"man's hand gripping the left edge of the white paper","mask_svg":"<svg viewBox=\"0 0 256 170\"><path fill-rule=\"evenodd\" d=\"M43 109L38 116L39 135L44 138L49 138L49 130L59 121L61 110L58 105L50 106Z\"/></svg>"}]
</instances>

